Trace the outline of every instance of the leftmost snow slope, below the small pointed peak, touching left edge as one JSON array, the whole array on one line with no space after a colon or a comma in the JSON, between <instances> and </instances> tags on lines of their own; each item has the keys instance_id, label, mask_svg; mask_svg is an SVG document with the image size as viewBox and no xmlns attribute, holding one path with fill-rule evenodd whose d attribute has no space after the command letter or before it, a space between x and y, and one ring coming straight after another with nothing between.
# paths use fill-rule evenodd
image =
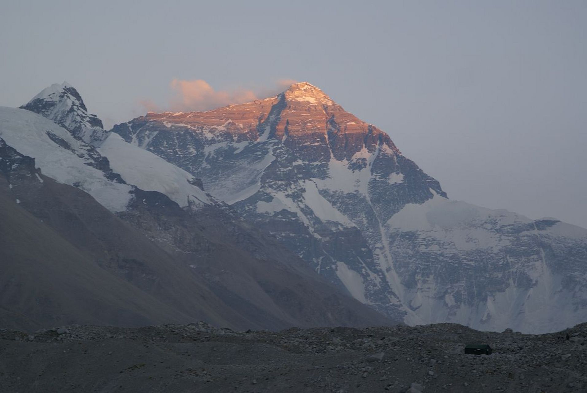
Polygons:
<instances>
[{"instance_id":1,"label":"leftmost snow slope, below the small pointed peak, touching left edge","mask_svg":"<svg viewBox=\"0 0 587 393\"><path fill-rule=\"evenodd\" d=\"M84 190L110 211L126 209L132 187L108 179L94 167L91 147L51 120L29 110L0 107L0 138L33 157L46 176Z\"/></svg>"}]
</instances>

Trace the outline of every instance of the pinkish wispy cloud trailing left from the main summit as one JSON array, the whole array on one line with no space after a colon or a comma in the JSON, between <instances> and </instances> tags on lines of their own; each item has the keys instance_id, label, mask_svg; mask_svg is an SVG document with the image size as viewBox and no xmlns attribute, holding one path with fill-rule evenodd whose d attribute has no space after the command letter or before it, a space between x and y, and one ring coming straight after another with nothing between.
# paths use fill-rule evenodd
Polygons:
<instances>
[{"instance_id":1,"label":"pinkish wispy cloud trailing left from the main summit","mask_svg":"<svg viewBox=\"0 0 587 393\"><path fill-rule=\"evenodd\" d=\"M139 105L147 111L153 112L162 112L163 110L182 112L208 110L271 97L281 93L292 83L295 83L295 80L280 79L270 88L259 86L259 88L254 89L214 90L210 83L204 79L184 80L174 78L169 84L172 97L167 108L157 106L150 99L140 100Z\"/></svg>"}]
</instances>

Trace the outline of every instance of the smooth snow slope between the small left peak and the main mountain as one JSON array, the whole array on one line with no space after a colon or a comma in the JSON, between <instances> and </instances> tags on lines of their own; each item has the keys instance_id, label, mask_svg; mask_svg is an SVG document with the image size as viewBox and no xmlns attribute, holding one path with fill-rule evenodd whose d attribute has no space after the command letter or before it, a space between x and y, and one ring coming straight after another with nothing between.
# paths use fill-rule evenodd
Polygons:
<instances>
[{"instance_id":1,"label":"smooth snow slope between the small left peak and the main mountain","mask_svg":"<svg viewBox=\"0 0 587 393\"><path fill-rule=\"evenodd\" d=\"M197 186L194 176L147 150L124 142L117 134L110 134L97 150L108 158L114 172L142 190L166 194L181 207L211 203Z\"/></svg>"}]
</instances>

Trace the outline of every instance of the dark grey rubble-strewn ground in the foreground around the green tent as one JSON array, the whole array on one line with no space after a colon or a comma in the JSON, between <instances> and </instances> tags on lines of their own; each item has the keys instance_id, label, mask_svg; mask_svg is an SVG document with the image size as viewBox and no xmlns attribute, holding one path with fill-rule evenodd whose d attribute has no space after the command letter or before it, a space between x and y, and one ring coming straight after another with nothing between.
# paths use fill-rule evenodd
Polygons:
<instances>
[{"instance_id":1,"label":"dark grey rubble-strewn ground in the foreground around the green tent","mask_svg":"<svg viewBox=\"0 0 587 393\"><path fill-rule=\"evenodd\" d=\"M587 324L542 335L455 324L0 330L0 391L585 392L586 338ZM494 352L465 355L469 342Z\"/></svg>"}]
</instances>

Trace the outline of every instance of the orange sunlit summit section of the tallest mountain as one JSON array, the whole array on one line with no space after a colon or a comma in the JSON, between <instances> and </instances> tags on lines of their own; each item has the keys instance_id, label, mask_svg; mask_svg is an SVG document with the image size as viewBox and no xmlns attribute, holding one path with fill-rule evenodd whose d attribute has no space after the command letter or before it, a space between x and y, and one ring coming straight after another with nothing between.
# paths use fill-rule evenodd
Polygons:
<instances>
[{"instance_id":1,"label":"orange sunlit summit section of the tallest mountain","mask_svg":"<svg viewBox=\"0 0 587 393\"><path fill-rule=\"evenodd\" d=\"M275 119L269 119L271 116ZM350 160L362 149L373 152L383 145L397 152L386 133L345 112L308 82L294 83L285 92L264 100L205 112L149 112L143 119L167 127L207 130L217 139L233 142L271 137L294 151L303 147L315 162L330 157Z\"/></svg>"}]
</instances>

